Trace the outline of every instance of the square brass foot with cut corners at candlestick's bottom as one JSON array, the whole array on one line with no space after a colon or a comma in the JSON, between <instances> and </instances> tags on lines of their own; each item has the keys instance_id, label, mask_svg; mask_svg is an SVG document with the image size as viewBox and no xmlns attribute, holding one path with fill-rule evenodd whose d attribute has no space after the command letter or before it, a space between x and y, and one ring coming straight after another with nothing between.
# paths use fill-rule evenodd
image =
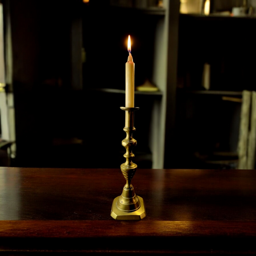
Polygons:
<instances>
[{"instance_id":1,"label":"square brass foot with cut corners at candlestick's bottom","mask_svg":"<svg viewBox=\"0 0 256 256\"><path fill-rule=\"evenodd\" d=\"M136 211L124 212L117 208L116 203L119 196L116 197L112 203L111 214L110 216L114 219L120 220L140 220L146 217L146 208L144 205L144 200L142 197L138 196L140 200L140 207Z\"/></svg>"}]
</instances>

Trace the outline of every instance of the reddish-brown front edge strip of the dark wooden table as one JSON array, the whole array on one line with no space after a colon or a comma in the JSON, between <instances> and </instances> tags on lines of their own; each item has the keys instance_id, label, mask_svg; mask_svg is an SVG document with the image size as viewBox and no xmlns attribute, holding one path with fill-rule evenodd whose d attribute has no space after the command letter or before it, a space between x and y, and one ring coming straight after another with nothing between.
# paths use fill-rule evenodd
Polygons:
<instances>
[{"instance_id":1,"label":"reddish-brown front edge strip of the dark wooden table","mask_svg":"<svg viewBox=\"0 0 256 256\"><path fill-rule=\"evenodd\" d=\"M256 237L256 221L0 220L0 238Z\"/></svg>"}]
</instances>

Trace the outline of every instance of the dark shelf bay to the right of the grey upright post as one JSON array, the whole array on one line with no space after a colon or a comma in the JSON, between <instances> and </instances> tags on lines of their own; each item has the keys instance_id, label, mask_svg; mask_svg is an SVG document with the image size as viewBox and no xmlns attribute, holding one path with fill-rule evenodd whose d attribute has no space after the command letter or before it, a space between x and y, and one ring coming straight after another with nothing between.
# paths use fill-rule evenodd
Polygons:
<instances>
[{"instance_id":1,"label":"dark shelf bay to the right of the grey upright post","mask_svg":"<svg viewBox=\"0 0 256 256\"><path fill-rule=\"evenodd\" d=\"M242 91L255 88L255 25L255 17L180 14L177 166L236 167Z\"/></svg>"}]
</instances>

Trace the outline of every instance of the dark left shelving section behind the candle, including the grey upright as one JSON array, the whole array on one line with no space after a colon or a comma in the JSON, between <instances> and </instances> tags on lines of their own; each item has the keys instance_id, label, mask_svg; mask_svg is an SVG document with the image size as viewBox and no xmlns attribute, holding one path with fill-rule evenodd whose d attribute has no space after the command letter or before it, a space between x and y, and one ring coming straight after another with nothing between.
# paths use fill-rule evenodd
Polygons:
<instances>
[{"instance_id":1,"label":"dark left shelving section behind the candle, including the grey upright","mask_svg":"<svg viewBox=\"0 0 256 256\"><path fill-rule=\"evenodd\" d=\"M149 79L159 88L135 92L134 162L163 168L173 161L180 1L164 0L163 8L111 2L12 1L19 166L120 167L128 35L135 86Z\"/></svg>"}]
</instances>

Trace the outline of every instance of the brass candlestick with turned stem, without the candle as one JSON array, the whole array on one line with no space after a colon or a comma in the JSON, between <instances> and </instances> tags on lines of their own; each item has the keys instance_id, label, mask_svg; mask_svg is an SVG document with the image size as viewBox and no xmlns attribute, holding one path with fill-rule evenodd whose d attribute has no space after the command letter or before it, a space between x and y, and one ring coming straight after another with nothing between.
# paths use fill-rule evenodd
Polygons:
<instances>
[{"instance_id":1,"label":"brass candlestick with turned stem, without the candle","mask_svg":"<svg viewBox=\"0 0 256 256\"><path fill-rule=\"evenodd\" d=\"M111 217L114 219L134 219L139 220L146 217L146 208L144 201L134 192L134 187L131 184L134 177L137 165L133 163L134 154L132 149L137 145L137 141L133 138L134 128L134 111L139 108L124 108L125 110L125 127L126 138L122 140L122 146L126 148L126 153L123 155L126 158L125 163L121 165L122 174L126 180L123 187L122 195L116 197L111 208Z\"/></svg>"}]
</instances>

